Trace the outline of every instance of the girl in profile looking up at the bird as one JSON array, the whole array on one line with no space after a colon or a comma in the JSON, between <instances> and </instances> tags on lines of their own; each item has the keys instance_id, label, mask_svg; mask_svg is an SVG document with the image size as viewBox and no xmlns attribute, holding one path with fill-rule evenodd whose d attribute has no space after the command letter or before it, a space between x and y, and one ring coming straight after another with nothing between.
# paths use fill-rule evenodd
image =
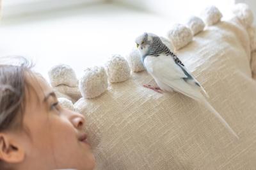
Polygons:
<instances>
[{"instance_id":1,"label":"girl in profile looking up at the bird","mask_svg":"<svg viewBox=\"0 0 256 170\"><path fill-rule=\"evenodd\" d=\"M0 169L93 169L84 116L61 107L26 59L1 60Z\"/></svg>"}]
</instances>

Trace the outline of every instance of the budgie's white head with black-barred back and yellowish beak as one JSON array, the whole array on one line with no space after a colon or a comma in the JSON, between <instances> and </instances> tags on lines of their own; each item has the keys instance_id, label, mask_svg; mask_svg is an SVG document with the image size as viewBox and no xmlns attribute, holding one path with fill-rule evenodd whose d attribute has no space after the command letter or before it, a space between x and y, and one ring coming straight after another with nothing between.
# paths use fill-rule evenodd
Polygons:
<instances>
[{"instance_id":1,"label":"budgie's white head with black-barred back and yellowish beak","mask_svg":"<svg viewBox=\"0 0 256 170\"><path fill-rule=\"evenodd\" d=\"M136 46L140 51L142 58L145 58L145 56L148 55L150 47L152 47L152 44L154 42L154 37L157 37L157 35L154 35L152 33L143 33L143 35L140 35L136 38Z\"/></svg>"}]
</instances>

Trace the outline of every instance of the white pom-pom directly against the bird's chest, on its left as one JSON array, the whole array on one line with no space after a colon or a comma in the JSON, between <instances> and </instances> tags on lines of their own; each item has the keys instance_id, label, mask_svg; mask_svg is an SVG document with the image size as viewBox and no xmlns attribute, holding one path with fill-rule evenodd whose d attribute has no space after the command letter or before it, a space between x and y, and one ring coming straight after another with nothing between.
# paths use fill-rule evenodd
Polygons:
<instances>
[{"instance_id":1,"label":"white pom-pom directly against the bird's chest, on its left","mask_svg":"<svg viewBox=\"0 0 256 170\"><path fill-rule=\"evenodd\" d=\"M132 72L141 72L145 70L143 63L141 62L140 52L138 49L132 49L127 56L127 61L131 66Z\"/></svg>"}]
</instances>

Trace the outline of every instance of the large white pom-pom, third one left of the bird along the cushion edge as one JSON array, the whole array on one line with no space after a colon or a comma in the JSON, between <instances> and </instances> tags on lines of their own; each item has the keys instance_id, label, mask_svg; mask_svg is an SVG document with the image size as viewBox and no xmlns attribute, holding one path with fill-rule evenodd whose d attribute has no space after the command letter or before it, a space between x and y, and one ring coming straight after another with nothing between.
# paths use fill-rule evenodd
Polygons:
<instances>
[{"instance_id":1,"label":"large white pom-pom, third one left of the bird along the cushion edge","mask_svg":"<svg viewBox=\"0 0 256 170\"><path fill-rule=\"evenodd\" d=\"M79 80L79 90L84 98L94 98L101 95L108 88L108 76L103 66L94 66L84 70Z\"/></svg>"}]
</instances>

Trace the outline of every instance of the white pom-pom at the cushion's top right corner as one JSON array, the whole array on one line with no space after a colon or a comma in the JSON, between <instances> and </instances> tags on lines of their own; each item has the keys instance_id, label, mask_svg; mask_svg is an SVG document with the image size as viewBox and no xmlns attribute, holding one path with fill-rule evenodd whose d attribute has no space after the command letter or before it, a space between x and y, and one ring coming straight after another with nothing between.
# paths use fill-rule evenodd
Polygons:
<instances>
[{"instance_id":1,"label":"white pom-pom at the cushion's top right corner","mask_svg":"<svg viewBox=\"0 0 256 170\"><path fill-rule=\"evenodd\" d=\"M238 3L233 6L232 12L236 15L244 24L245 27L249 27L253 22L253 12L249 6L244 3Z\"/></svg>"}]
</instances>

